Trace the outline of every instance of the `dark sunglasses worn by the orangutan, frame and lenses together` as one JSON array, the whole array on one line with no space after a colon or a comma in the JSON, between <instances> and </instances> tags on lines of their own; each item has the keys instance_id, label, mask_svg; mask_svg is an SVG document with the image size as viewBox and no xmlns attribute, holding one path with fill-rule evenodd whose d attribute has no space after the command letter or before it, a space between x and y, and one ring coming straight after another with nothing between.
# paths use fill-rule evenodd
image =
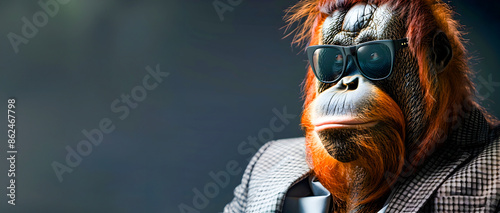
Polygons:
<instances>
[{"instance_id":1,"label":"dark sunglasses worn by the orangutan, frame and lenses together","mask_svg":"<svg viewBox=\"0 0 500 213\"><path fill-rule=\"evenodd\" d=\"M408 46L408 38L379 40L356 46L315 45L307 47L314 75L323 83L338 81L352 56L361 74L370 80L382 80L392 73L395 52Z\"/></svg>"}]
</instances>

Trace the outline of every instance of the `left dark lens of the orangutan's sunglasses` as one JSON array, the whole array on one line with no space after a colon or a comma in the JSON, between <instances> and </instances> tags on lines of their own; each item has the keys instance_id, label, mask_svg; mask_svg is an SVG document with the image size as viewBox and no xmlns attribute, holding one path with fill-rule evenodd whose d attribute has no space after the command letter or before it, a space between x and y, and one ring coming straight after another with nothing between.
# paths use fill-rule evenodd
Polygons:
<instances>
[{"instance_id":1,"label":"left dark lens of the orangutan's sunglasses","mask_svg":"<svg viewBox=\"0 0 500 213\"><path fill-rule=\"evenodd\" d=\"M344 68L342 52L336 48L319 48L313 54L316 76L323 82L338 80Z\"/></svg>"}]
</instances>

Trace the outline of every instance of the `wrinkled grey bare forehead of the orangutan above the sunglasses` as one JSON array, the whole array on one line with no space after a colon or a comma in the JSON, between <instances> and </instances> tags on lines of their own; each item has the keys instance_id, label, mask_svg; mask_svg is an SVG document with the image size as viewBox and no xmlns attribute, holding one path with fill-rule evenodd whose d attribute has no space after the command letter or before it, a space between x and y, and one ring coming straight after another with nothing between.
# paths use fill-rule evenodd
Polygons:
<instances>
[{"instance_id":1,"label":"wrinkled grey bare forehead of the orangutan above the sunglasses","mask_svg":"<svg viewBox=\"0 0 500 213\"><path fill-rule=\"evenodd\" d=\"M355 45L366 41L400 39L402 20L388 4L357 3L337 9L323 22L322 44Z\"/></svg>"}]
</instances>

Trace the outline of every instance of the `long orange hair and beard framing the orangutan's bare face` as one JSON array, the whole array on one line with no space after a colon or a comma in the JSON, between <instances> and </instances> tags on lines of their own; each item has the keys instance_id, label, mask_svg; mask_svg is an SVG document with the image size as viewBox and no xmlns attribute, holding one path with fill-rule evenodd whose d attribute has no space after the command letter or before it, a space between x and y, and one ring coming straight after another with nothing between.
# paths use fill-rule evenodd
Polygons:
<instances>
[{"instance_id":1,"label":"long orange hair and beard framing the orangutan's bare face","mask_svg":"<svg viewBox=\"0 0 500 213\"><path fill-rule=\"evenodd\" d=\"M422 87L422 94L424 97L423 107L425 108L425 120L429 122L423 124L425 131L418 139L418 143L410 145L404 144L406 147L396 146L394 152L404 152L403 155L406 155L407 158L408 156L411 157L407 159L410 164L418 165L425 159L426 155L432 153L432 150L435 149L438 142L446 137L450 127L457 121L457 119L450 118L459 117L458 113L464 111L464 109L467 111L470 109L471 105L482 109L473 99L474 87L470 80L472 73L467 67L467 53L463 45L462 33L458 29L460 26L457 21L452 19L453 12L450 10L449 6L436 0L303 0L287 11L287 15L285 16L288 22L286 26L287 30L294 27L290 30L290 34L294 34L294 43L298 45L317 45L320 43L321 39L322 23L329 13L337 8L349 8L358 2L367 2L376 5L388 3L392 6L394 11L398 12L403 20L406 20L406 37L409 40L410 52L418 63L420 76L419 83ZM430 47L432 46L433 34L438 30L444 32L449 39L453 57L446 68L441 73L436 74L432 71L430 65L432 61L430 61L429 54L432 51ZM316 167L327 167L314 168L317 173L316 175L334 176L330 181L326 181L326 183L323 183L325 182L323 181L322 183L332 192L335 199L339 200L339 202L337 202L338 205L342 205L342 202L344 204L347 203L346 205L349 205L349 202L355 205L362 205L380 198L380 196L387 191L390 184L392 184L392 180L389 181L387 185L384 185L380 183L378 179L381 177L380 175L372 175L371 182L382 184L377 186L382 188L380 188L379 191L374 191L376 188L370 187L365 191L362 189L360 193L365 196L362 196L360 198L361 200L349 200L348 190L350 186L347 185L345 171L348 170L349 168L347 167L352 166L352 164L340 164L336 162L335 159L331 159L325 149L320 146L321 143L318 143L318 138L315 138L314 134L312 134L313 127L311 125L309 112L311 103L318 95L315 81L315 76L309 67L303 83L305 102L304 112L302 114L302 125L306 131L310 164ZM377 101L385 102L386 105L391 106L393 110L398 111L398 113L400 112L399 107L397 105L394 106L395 103L389 97L380 95L379 99L380 100ZM496 122L492 116L489 116L484 110L483 112L490 124ZM397 120L396 123L401 122L401 117L402 115L396 115L393 117L393 120ZM404 120L402 122L404 122ZM403 140L404 143L404 132L402 134L395 133L394 135L398 136L399 140ZM398 138L392 138L391 140L398 140ZM364 144L369 147L369 140ZM367 153L364 154L367 155L363 158L365 161L375 158L384 158L384 156L376 156L377 153L372 155ZM380 152L378 154L380 154ZM385 156L385 158L394 157ZM393 165L395 168L393 168L393 170L395 171L391 171L391 173L397 176L401 172L401 159L392 160L397 162L397 165ZM356 165L362 163L363 162L358 161ZM368 165L370 162L364 163ZM387 169L387 167L384 166L366 168L373 170L371 171L373 174L384 174L383 170ZM349 207L347 207L347 209L349 209Z\"/></svg>"}]
</instances>

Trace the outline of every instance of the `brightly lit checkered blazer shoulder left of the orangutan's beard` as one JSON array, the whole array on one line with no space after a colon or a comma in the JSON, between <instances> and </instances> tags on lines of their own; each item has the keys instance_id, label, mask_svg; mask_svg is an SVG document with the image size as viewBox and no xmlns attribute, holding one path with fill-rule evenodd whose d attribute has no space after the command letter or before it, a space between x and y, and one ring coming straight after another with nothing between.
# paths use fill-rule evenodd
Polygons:
<instances>
[{"instance_id":1,"label":"brightly lit checkered blazer shoulder left of the orangutan's beard","mask_svg":"<svg viewBox=\"0 0 500 213\"><path fill-rule=\"evenodd\" d=\"M271 141L250 160L224 212L281 212L288 189L308 177L304 138Z\"/></svg>"}]
</instances>

